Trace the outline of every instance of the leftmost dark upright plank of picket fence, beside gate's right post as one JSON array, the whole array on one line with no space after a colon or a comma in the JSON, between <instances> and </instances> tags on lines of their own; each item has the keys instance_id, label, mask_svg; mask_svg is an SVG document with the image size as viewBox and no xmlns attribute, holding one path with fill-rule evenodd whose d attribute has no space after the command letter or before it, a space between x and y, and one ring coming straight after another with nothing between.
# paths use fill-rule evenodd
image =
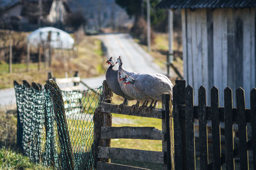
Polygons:
<instances>
[{"instance_id":1,"label":"leftmost dark upright plank of picket fence, beside gate's right post","mask_svg":"<svg viewBox=\"0 0 256 170\"><path fill-rule=\"evenodd\" d=\"M178 84L173 87L173 140L174 140L174 166L175 169L182 169L182 134L179 118L179 96L178 96Z\"/></svg>"}]
</instances>

